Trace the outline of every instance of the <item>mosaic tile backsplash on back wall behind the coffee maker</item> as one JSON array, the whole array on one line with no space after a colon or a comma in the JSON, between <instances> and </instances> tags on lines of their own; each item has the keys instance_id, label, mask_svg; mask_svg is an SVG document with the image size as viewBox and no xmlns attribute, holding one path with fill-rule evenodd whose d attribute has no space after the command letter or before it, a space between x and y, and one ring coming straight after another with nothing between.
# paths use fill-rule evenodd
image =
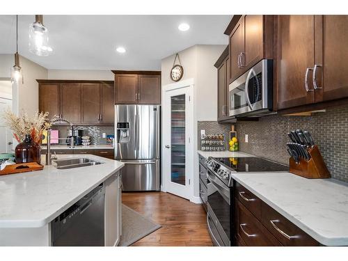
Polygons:
<instances>
[{"instance_id":1,"label":"mosaic tile backsplash on back wall behind the coffee maker","mask_svg":"<svg viewBox=\"0 0 348 261\"><path fill-rule=\"evenodd\" d=\"M106 144L106 138L102 138L102 134L113 135L113 126L74 126L75 129L83 129L84 136L90 136L90 144ZM52 129L58 129L59 138L66 138L68 126L53 126ZM64 140L59 140L59 144L64 144Z\"/></svg>"}]
</instances>

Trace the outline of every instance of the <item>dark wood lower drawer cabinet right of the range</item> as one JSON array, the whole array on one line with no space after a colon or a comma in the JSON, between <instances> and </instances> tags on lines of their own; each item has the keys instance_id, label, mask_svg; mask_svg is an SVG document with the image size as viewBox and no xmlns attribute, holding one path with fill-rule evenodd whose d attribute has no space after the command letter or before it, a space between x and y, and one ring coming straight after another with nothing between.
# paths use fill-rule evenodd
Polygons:
<instances>
[{"instance_id":1,"label":"dark wood lower drawer cabinet right of the range","mask_svg":"<svg viewBox=\"0 0 348 261\"><path fill-rule=\"evenodd\" d=\"M236 246L320 245L313 237L237 182L233 223Z\"/></svg>"}]
</instances>

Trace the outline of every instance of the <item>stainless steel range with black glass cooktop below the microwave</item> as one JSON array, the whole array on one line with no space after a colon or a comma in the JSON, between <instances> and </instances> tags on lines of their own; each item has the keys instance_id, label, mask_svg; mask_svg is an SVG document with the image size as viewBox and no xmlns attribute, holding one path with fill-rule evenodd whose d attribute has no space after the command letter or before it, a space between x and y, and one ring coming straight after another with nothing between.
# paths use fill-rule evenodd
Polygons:
<instances>
[{"instance_id":1,"label":"stainless steel range with black glass cooktop below the microwave","mask_svg":"<svg viewBox=\"0 0 348 261\"><path fill-rule=\"evenodd\" d=\"M212 158L207 171L207 226L215 246L232 246L233 180L232 173L278 173L288 166L258 157Z\"/></svg>"}]
</instances>

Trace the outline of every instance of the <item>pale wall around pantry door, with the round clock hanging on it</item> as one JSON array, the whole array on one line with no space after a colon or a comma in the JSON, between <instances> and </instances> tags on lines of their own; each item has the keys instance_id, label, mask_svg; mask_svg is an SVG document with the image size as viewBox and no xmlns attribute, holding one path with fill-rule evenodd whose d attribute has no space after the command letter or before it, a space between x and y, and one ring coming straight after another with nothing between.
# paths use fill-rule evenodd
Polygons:
<instances>
[{"instance_id":1,"label":"pale wall around pantry door, with the round clock hanging on it","mask_svg":"<svg viewBox=\"0 0 348 261\"><path fill-rule=\"evenodd\" d=\"M193 191L199 198L199 171L198 171L198 120L217 120L217 69L214 63L223 53L226 45L194 45L188 49L178 52L182 67L184 68L184 79L194 79L194 122L193 122ZM163 58L161 61L161 83L162 88L166 84L172 84L170 77L171 68L175 54ZM162 171L163 173L163 171ZM163 180L163 179L162 179Z\"/></svg>"}]
</instances>

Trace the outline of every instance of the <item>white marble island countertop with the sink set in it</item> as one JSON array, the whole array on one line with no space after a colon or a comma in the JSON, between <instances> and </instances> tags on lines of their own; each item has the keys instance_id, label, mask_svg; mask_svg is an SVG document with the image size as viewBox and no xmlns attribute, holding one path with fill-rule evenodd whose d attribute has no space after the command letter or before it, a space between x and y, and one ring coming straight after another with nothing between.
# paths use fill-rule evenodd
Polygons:
<instances>
[{"instance_id":1,"label":"white marble island countertop with the sink set in it","mask_svg":"<svg viewBox=\"0 0 348 261\"><path fill-rule=\"evenodd\" d=\"M124 166L94 155L57 157L87 157L103 164L65 170L45 166L42 171L0 176L0 228L45 226Z\"/></svg>"}]
</instances>

